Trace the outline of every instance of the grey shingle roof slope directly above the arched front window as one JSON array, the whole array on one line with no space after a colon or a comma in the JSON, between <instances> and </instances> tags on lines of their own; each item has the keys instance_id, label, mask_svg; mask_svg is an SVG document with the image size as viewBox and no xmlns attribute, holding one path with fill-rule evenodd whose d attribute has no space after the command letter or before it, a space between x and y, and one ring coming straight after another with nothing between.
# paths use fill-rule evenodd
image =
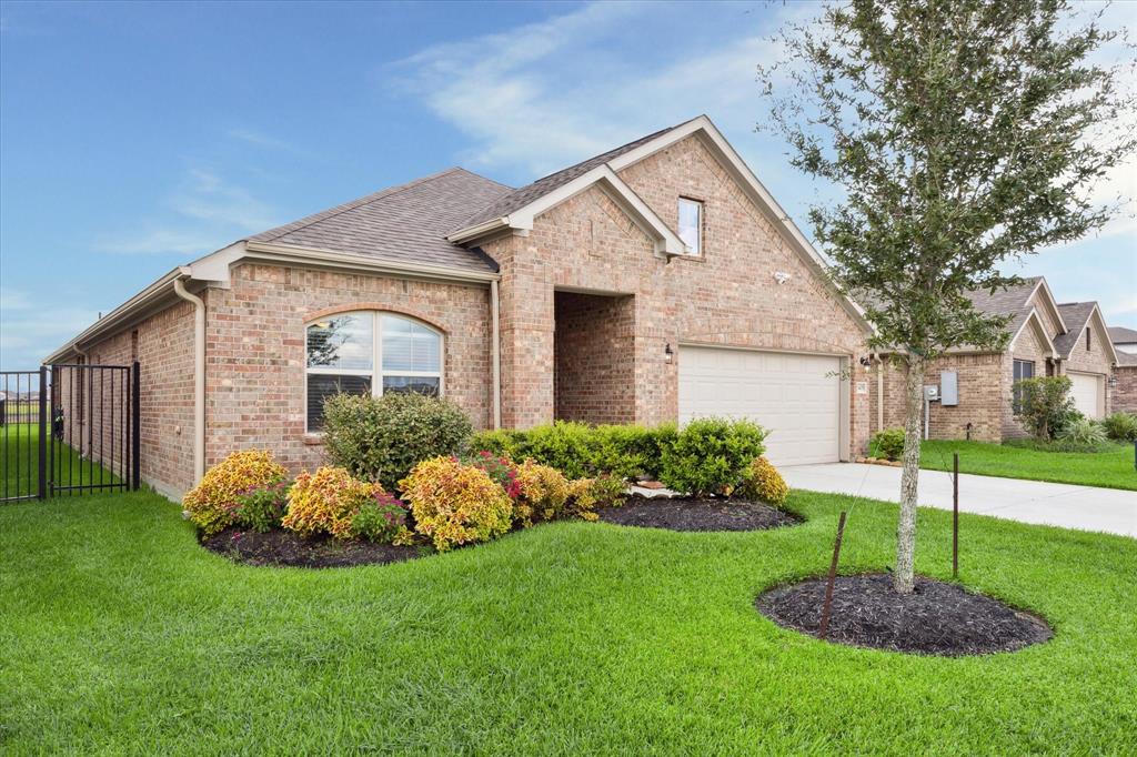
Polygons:
<instances>
[{"instance_id":1,"label":"grey shingle roof slope directly above the arched front window","mask_svg":"<svg viewBox=\"0 0 1137 757\"><path fill-rule=\"evenodd\" d=\"M249 239L397 263L420 263L465 271L496 271L478 250L446 241L464 218L497 201L511 188L450 168L400 186L352 200Z\"/></svg>"}]
</instances>

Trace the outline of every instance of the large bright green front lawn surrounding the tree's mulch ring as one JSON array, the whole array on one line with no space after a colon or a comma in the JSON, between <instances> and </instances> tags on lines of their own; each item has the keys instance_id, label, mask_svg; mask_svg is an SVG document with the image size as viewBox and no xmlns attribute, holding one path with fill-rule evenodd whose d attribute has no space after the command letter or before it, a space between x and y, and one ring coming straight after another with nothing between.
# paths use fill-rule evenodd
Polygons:
<instances>
[{"instance_id":1,"label":"large bright green front lawn surrounding the tree's mulch ring","mask_svg":"<svg viewBox=\"0 0 1137 757\"><path fill-rule=\"evenodd\" d=\"M249 754L1134 754L1137 542L961 516L962 580L1053 624L1014 654L819 642L754 610L822 573L800 526L583 522L390 566L252 568L133 493L0 506L0 750ZM951 514L918 569L949 576ZM893 558L861 501L846 572Z\"/></svg>"}]
</instances>

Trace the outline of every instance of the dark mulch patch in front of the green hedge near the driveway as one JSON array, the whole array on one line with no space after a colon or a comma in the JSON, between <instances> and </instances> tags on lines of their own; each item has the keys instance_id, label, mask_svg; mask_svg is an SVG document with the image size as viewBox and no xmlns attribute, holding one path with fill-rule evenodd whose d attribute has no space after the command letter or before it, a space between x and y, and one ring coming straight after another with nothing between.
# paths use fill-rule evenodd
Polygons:
<instances>
[{"instance_id":1,"label":"dark mulch patch in front of the green hedge near the driveway","mask_svg":"<svg viewBox=\"0 0 1137 757\"><path fill-rule=\"evenodd\" d=\"M689 497L632 497L622 507L599 510L605 523L671 531L762 531L802 518L761 502Z\"/></svg>"}]
</instances>

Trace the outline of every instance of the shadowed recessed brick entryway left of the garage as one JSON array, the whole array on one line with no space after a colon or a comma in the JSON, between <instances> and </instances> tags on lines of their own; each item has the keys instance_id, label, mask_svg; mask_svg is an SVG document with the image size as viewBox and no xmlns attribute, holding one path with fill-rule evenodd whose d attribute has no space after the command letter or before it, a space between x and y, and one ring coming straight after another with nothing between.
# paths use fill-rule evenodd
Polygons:
<instances>
[{"instance_id":1,"label":"shadowed recessed brick entryway left of the garage","mask_svg":"<svg viewBox=\"0 0 1137 757\"><path fill-rule=\"evenodd\" d=\"M565 421L632 423L636 314L631 297L557 292L554 413Z\"/></svg>"}]
</instances>

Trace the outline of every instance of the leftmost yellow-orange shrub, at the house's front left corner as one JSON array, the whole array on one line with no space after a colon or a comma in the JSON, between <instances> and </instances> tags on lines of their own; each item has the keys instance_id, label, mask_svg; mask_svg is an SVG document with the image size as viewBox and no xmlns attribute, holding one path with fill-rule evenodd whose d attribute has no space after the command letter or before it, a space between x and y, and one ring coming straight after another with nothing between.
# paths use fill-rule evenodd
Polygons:
<instances>
[{"instance_id":1,"label":"leftmost yellow-orange shrub, at the house's front left corner","mask_svg":"<svg viewBox=\"0 0 1137 757\"><path fill-rule=\"evenodd\" d=\"M288 471L265 450L233 452L209 468L197 486L182 500L186 516L207 536L238 518L238 498L250 489L268 486L288 476Z\"/></svg>"}]
</instances>

